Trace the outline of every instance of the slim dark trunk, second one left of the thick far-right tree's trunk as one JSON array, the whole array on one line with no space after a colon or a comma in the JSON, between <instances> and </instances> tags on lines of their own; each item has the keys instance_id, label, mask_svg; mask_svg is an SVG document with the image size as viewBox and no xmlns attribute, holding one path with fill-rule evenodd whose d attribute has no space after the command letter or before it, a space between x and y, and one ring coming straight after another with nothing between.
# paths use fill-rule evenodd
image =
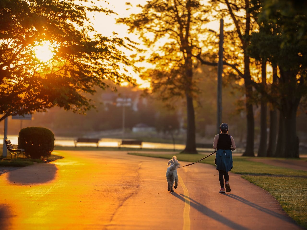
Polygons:
<instances>
[{"instance_id":1,"label":"slim dark trunk, second one left of the thick far-right tree's trunk","mask_svg":"<svg viewBox=\"0 0 307 230\"><path fill-rule=\"evenodd\" d=\"M272 94L275 96L275 86L277 84L277 66L272 64L273 67L273 82L272 82ZM272 157L275 155L276 150L276 138L277 138L277 109L270 103L270 133L269 133L269 144L266 152L266 156Z\"/></svg>"}]
</instances>

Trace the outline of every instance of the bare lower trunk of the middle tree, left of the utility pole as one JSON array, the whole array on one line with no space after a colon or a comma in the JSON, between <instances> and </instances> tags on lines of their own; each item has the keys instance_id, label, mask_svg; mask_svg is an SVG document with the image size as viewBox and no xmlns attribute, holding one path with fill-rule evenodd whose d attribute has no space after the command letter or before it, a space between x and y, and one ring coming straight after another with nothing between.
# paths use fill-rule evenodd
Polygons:
<instances>
[{"instance_id":1,"label":"bare lower trunk of the middle tree, left of the utility pole","mask_svg":"<svg viewBox=\"0 0 307 230\"><path fill-rule=\"evenodd\" d=\"M187 99L187 138L185 149L181 153L196 154L196 137L195 137L195 114L193 98L186 94Z\"/></svg>"}]
</instances>

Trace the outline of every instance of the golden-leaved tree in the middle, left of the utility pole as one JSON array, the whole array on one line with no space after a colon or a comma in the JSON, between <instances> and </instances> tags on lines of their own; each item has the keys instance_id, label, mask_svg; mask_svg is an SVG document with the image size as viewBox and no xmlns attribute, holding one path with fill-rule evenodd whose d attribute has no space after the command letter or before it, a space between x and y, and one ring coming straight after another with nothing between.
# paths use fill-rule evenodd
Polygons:
<instances>
[{"instance_id":1,"label":"golden-leaved tree in the middle, left of the utility pole","mask_svg":"<svg viewBox=\"0 0 307 230\"><path fill-rule=\"evenodd\" d=\"M119 18L117 22L128 25L129 32L137 31L151 49L150 57L142 58L154 65L154 70L143 75L151 78L152 91L160 92L162 100L185 97L187 135L183 152L197 153L193 105L197 89L193 69L208 10L199 0L151 0L138 7L142 8L141 13Z\"/></svg>"}]
</instances>

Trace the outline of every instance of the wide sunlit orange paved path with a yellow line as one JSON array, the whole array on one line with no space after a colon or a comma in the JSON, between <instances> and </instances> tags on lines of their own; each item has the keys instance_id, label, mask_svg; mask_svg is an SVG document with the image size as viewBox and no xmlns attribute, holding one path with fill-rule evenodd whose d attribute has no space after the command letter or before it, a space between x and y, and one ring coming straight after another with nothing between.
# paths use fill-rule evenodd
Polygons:
<instances>
[{"instance_id":1,"label":"wide sunlit orange paved path with a yellow line","mask_svg":"<svg viewBox=\"0 0 307 230\"><path fill-rule=\"evenodd\" d=\"M178 169L180 183L170 193L165 159L108 151L58 155L64 159L0 176L1 230L302 229L240 175L230 173L232 191L219 194L212 165Z\"/></svg>"}]
</instances>

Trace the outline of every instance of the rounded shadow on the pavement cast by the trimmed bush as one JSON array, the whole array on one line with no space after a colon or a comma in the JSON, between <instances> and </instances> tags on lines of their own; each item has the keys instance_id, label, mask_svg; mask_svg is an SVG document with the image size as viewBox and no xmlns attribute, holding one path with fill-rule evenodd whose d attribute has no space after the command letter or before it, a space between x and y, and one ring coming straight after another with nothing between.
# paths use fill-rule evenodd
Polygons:
<instances>
[{"instance_id":1,"label":"rounded shadow on the pavement cast by the trimmed bush","mask_svg":"<svg viewBox=\"0 0 307 230\"><path fill-rule=\"evenodd\" d=\"M34 164L8 172L8 180L19 184L41 184L52 181L56 175L56 165Z\"/></svg>"}]
</instances>

